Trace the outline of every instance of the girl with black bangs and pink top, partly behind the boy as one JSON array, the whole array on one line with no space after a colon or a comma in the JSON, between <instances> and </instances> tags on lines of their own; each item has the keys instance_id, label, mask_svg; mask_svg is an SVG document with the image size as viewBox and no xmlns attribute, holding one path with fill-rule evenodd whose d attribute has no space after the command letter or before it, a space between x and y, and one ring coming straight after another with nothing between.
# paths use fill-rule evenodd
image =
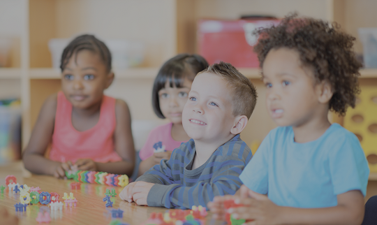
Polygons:
<instances>
[{"instance_id":1,"label":"girl with black bangs and pink top, partly behind the boy","mask_svg":"<svg viewBox=\"0 0 377 225\"><path fill-rule=\"evenodd\" d=\"M154 80L152 106L154 113L170 123L158 126L149 133L147 143L140 150L138 175L142 175L161 159L170 159L172 150L188 141L182 126L182 110L195 75L208 67L200 55L180 54L163 64Z\"/></svg>"}]
</instances>

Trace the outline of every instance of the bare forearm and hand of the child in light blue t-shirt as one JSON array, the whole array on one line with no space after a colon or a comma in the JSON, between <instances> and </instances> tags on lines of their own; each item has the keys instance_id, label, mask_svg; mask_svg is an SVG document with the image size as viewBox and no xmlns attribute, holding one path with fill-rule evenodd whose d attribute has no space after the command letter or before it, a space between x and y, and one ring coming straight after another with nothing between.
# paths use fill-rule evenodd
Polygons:
<instances>
[{"instance_id":1,"label":"bare forearm and hand of the child in light blue t-shirt","mask_svg":"<svg viewBox=\"0 0 377 225\"><path fill-rule=\"evenodd\" d=\"M290 208L275 205L267 196L249 190L251 198L236 198L245 207L232 208L235 219L253 219L249 224L361 224L364 198L353 190L337 195L338 205L329 208ZM246 223L247 224L247 223Z\"/></svg>"}]
</instances>

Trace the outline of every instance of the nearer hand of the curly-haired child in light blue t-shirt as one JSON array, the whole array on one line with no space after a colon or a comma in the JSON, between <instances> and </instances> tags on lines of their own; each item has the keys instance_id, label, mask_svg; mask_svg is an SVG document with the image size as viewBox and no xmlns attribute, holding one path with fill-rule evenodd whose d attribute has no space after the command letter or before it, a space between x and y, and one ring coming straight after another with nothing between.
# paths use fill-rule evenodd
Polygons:
<instances>
[{"instance_id":1,"label":"nearer hand of the curly-haired child in light blue t-shirt","mask_svg":"<svg viewBox=\"0 0 377 225\"><path fill-rule=\"evenodd\" d=\"M229 213L233 214L235 219L253 220L246 224L278 224L280 207L275 205L269 198L263 194L258 194L249 189L248 195L251 198L235 198L236 204L243 204L244 207L230 208Z\"/></svg>"}]
</instances>

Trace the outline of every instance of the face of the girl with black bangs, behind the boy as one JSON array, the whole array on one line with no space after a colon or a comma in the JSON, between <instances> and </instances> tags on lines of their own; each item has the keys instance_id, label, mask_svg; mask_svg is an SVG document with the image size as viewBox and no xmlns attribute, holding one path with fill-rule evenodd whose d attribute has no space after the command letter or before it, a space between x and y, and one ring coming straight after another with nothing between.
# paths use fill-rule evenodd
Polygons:
<instances>
[{"instance_id":1,"label":"face of the girl with black bangs, behind the boy","mask_svg":"<svg viewBox=\"0 0 377 225\"><path fill-rule=\"evenodd\" d=\"M191 80L185 78L182 87L177 88L175 85L170 87L167 81L165 87L158 92L161 113L173 124L182 123L182 111L192 84Z\"/></svg>"}]
</instances>

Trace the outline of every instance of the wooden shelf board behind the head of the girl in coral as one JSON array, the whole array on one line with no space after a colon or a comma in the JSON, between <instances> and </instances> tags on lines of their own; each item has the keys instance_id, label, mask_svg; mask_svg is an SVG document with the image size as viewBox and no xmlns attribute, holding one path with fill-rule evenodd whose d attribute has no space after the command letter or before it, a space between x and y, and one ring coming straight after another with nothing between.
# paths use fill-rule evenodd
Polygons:
<instances>
[{"instance_id":1,"label":"wooden shelf board behind the head of the girl in coral","mask_svg":"<svg viewBox=\"0 0 377 225\"><path fill-rule=\"evenodd\" d=\"M114 69L115 78L118 79L154 79L158 68L128 68ZM31 68L31 79L60 79L60 70L57 68Z\"/></svg>"}]
</instances>

